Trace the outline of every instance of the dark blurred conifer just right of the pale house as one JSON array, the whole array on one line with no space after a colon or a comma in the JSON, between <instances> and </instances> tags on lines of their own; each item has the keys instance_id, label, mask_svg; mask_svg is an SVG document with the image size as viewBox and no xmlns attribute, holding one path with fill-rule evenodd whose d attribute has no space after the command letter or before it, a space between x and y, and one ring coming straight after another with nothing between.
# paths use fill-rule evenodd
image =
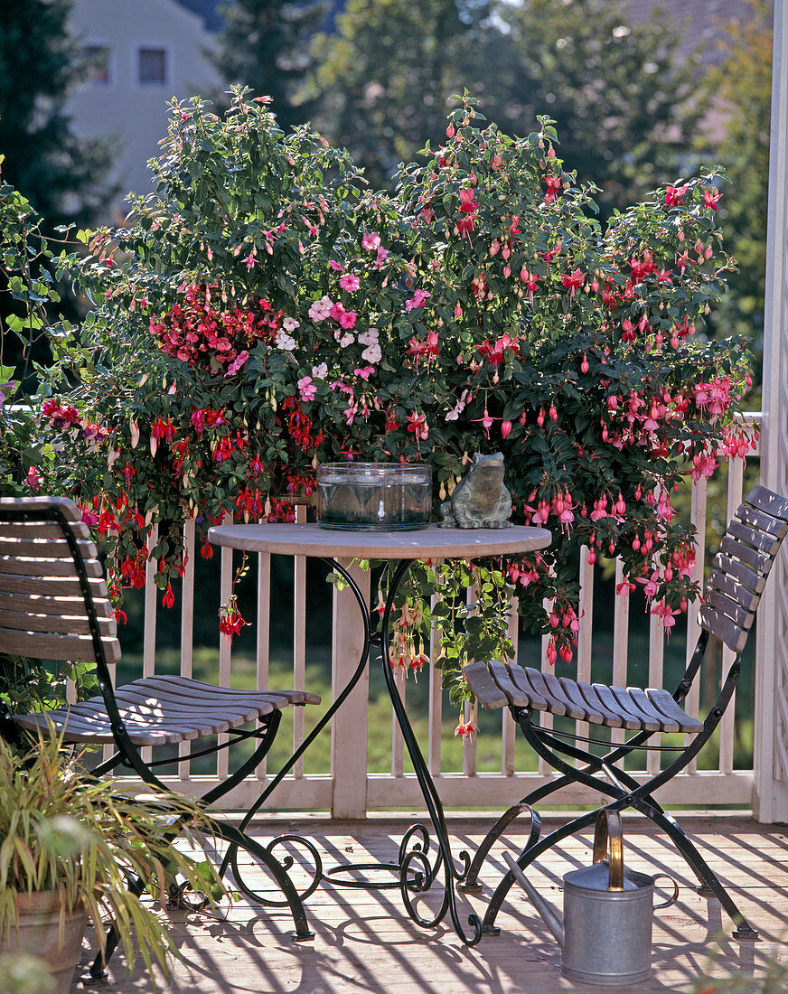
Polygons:
<instances>
[{"instance_id":1,"label":"dark blurred conifer just right of the pale house","mask_svg":"<svg viewBox=\"0 0 788 994\"><path fill-rule=\"evenodd\" d=\"M309 39L325 15L324 0L236 0L223 8L225 27L214 65L227 83L242 83L258 96L272 97L285 131L309 116L300 83L312 65Z\"/></svg>"}]
</instances>

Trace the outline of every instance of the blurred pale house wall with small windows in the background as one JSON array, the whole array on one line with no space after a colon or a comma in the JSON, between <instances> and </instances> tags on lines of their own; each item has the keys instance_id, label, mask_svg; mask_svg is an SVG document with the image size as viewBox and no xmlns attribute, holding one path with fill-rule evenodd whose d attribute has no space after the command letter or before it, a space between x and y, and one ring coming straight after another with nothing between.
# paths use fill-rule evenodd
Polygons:
<instances>
[{"instance_id":1,"label":"blurred pale house wall with small windows in the background","mask_svg":"<svg viewBox=\"0 0 788 994\"><path fill-rule=\"evenodd\" d=\"M72 29L93 64L69 109L79 136L109 136L113 178L121 195L112 205L119 223L125 194L151 190L147 161L167 133L167 101L209 93L220 84L206 58L221 27L219 0L75 0Z\"/></svg>"}]
</instances>

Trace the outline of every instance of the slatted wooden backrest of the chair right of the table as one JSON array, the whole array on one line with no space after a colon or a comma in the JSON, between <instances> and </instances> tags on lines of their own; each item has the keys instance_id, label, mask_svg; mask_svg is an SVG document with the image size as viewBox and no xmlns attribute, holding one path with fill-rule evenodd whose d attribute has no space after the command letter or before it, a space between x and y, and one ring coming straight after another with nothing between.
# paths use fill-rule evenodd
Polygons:
<instances>
[{"instance_id":1,"label":"slatted wooden backrest of the chair right of the table","mask_svg":"<svg viewBox=\"0 0 788 994\"><path fill-rule=\"evenodd\" d=\"M756 486L744 498L714 557L701 627L736 654L747 641L766 578L788 535L788 499Z\"/></svg>"}]
</instances>

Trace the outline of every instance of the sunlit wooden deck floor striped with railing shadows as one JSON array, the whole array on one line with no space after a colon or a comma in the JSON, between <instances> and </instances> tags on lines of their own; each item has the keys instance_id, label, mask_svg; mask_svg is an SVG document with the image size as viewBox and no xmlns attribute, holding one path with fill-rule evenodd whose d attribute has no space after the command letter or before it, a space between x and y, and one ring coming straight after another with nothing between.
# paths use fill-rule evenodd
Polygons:
<instances>
[{"instance_id":1,"label":"sunlit wooden deck floor striped with railing shadows","mask_svg":"<svg viewBox=\"0 0 788 994\"><path fill-rule=\"evenodd\" d=\"M367 822L271 819L255 834L271 838L287 831L308 834L327 866L340 861L392 858L402 832L414 819L380 816ZM491 823L484 818L452 818L456 850L474 848ZM547 824L549 829L552 822ZM721 977L740 971L762 977L769 959L788 969L788 829L756 825L743 817L695 816L683 821L707 854L735 900L761 932L756 943L730 939L731 925L716 901L700 897L686 865L664 837L639 818L625 819L625 861L635 870L672 874L681 886L679 902L655 912L651 980L619 991L687 992L709 971ZM513 832L514 851L524 836ZM591 834L569 839L540 863L535 882L560 909L558 885L569 869L590 863ZM473 909L482 914L491 887L505 869L502 846L493 850L483 874L481 895L462 899L463 920ZM214 992L302 992L336 994L367 991L430 994L529 994L603 990L573 984L560 976L560 952L547 927L519 888L502 909L499 937L484 937L474 948L461 944L445 925L424 931L407 919L398 891L358 891L324 884L307 903L316 932L313 942L293 943L292 920L285 910L237 903L225 920L204 914L174 914L174 938L182 959L173 967L171 990ZM85 948L84 962L87 962ZM127 994L152 990L140 962L129 978L122 955L110 964L104 990ZM788 975L787 975L788 976ZM163 985L166 989L166 982ZM102 987L93 988L98 991ZM760 990L760 985L752 990ZM784 986L770 988L788 990ZM73 992L82 990L77 983Z\"/></svg>"}]
</instances>

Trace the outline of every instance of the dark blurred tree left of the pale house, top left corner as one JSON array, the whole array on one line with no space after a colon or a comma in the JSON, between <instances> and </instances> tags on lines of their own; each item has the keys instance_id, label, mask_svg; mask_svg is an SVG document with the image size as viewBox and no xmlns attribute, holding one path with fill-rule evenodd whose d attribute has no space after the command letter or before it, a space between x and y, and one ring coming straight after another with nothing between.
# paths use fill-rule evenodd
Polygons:
<instances>
[{"instance_id":1,"label":"dark blurred tree left of the pale house, top left corner","mask_svg":"<svg viewBox=\"0 0 788 994\"><path fill-rule=\"evenodd\" d=\"M107 145L78 138L66 102L89 71L69 34L72 0L0 4L0 167L45 229L89 224L108 202Z\"/></svg>"}]
</instances>

